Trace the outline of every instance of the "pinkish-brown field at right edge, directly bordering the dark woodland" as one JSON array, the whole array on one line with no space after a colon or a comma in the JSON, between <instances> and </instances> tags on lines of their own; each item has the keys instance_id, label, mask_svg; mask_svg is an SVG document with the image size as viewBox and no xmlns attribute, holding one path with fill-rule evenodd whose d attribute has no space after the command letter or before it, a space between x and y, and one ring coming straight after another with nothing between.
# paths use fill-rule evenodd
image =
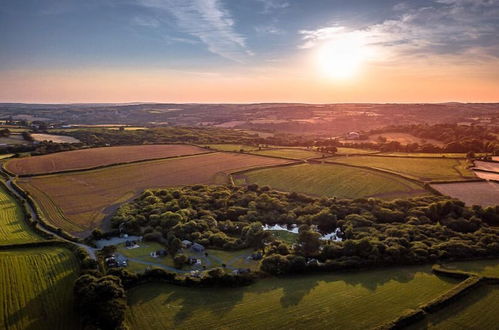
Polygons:
<instances>
[{"instance_id":1,"label":"pinkish-brown field at right edge, directly bordering the dark woodland","mask_svg":"<svg viewBox=\"0 0 499 330\"><path fill-rule=\"evenodd\" d=\"M467 205L491 206L499 204L499 183L458 182L432 184L440 193L462 200Z\"/></svg>"}]
</instances>

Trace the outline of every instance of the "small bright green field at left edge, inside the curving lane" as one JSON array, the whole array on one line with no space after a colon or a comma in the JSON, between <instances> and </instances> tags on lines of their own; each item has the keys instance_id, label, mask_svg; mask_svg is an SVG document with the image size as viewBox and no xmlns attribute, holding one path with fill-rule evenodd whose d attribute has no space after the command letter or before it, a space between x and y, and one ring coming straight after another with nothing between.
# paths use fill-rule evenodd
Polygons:
<instances>
[{"instance_id":1,"label":"small bright green field at left edge, inside the curving lane","mask_svg":"<svg viewBox=\"0 0 499 330\"><path fill-rule=\"evenodd\" d=\"M25 243L40 239L24 221L24 214L16 200L0 187L0 244Z\"/></svg>"}]
</instances>

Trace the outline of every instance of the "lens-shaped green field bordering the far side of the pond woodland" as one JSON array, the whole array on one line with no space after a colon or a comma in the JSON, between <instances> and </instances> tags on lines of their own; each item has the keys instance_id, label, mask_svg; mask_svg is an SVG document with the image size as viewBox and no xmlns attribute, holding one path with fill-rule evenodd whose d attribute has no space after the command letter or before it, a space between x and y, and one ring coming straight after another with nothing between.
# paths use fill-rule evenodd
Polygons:
<instances>
[{"instance_id":1,"label":"lens-shaped green field bordering the far side of the pond woodland","mask_svg":"<svg viewBox=\"0 0 499 330\"><path fill-rule=\"evenodd\" d=\"M247 172L246 183L339 198L398 198L429 194L417 183L371 170L333 164L300 164ZM240 181L238 181L240 182Z\"/></svg>"}]
</instances>

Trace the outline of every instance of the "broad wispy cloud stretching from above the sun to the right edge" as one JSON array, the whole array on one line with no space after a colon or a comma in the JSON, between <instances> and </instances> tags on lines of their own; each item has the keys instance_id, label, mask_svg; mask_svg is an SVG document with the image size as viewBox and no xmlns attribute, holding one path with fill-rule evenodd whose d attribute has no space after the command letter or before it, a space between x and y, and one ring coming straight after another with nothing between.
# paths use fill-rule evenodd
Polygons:
<instances>
[{"instance_id":1,"label":"broad wispy cloud stretching from above the sun to the right edge","mask_svg":"<svg viewBox=\"0 0 499 330\"><path fill-rule=\"evenodd\" d=\"M360 29L330 26L302 30L300 47L315 47L338 35L355 34L366 44L396 55L498 58L497 17L499 0L437 0L430 6L406 9L395 19Z\"/></svg>"}]
</instances>

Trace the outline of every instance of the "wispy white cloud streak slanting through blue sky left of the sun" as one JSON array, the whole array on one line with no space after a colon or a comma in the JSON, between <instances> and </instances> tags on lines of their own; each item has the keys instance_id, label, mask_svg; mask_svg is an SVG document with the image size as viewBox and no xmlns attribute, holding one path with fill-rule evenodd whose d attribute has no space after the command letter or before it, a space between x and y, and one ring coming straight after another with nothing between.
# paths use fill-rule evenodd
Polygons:
<instances>
[{"instance_id":1,"label":"wispy white cloud streak slanting through blue sky left of the sun","mask_svg":"<svg viewBox=\"0 0 499 330\"><path fill-rule=\"evenodd\" d=\"M137 1L153 9L162 21L173 17L181 32L199 39L214 54L236 62L244 62L251 55L245 38L235 32L234 20L220 0Z\"/></svg>"}]
</instances>

